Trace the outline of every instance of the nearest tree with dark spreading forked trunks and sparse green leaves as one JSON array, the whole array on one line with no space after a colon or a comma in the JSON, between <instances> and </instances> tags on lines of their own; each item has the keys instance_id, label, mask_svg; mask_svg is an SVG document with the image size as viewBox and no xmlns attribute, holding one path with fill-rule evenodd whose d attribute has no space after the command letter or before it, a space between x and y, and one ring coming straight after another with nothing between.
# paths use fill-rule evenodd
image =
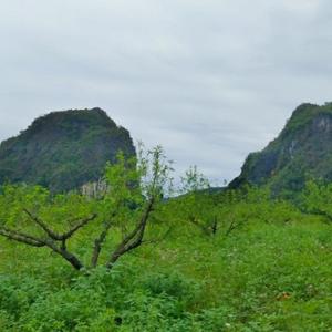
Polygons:
<instances>
[{"instance_id":1,"label":"nearest tree with dark spreading forked trunks and sparse green leaves","mask_svg":"<svg viewBox=\"0 0 332 332\"><path fill-rule=\"evenodd\" d=\"M0 236L49 248L76 270L95 268L105 249L103 263L112 269L123 255L143 243L170 172L163 148L157 146L147 153L141 149L138 158L126 159L120 153L116 163L106 166L107 190L97 198L77 193L53 196L42 187L4 186ZM83 229L85 235L80 238L79 230ZM80 243L86 241L93 241L90 264L74 252L74 248L82 251Z\"/></svg>"}]
</instances>

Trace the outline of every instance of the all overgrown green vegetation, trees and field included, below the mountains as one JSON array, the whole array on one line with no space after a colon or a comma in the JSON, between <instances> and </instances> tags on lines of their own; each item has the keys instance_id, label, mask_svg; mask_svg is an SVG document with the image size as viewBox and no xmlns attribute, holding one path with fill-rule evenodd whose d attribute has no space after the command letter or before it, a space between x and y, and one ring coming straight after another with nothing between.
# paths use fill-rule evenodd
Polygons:
<instances>
[{"instance_id":1,"label":"all overgrown green vegetation, trees and field included, below the mountains","mask_svg":"<svg viewBox=\"0 0 332 332\"><path fill-rule=\"evenodd\" d=\"M332 185L288 201L193 167L177 189L159 147L105 180L95 198L2 188L1 331L332 329Z\"/></svg>"}]
</instances>

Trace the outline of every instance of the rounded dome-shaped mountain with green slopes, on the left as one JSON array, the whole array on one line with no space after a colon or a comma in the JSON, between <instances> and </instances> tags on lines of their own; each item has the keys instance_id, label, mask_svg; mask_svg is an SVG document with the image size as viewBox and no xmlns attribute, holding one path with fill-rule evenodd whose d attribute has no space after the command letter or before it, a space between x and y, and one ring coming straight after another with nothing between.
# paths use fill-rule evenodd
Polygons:
<instances>
[{"instance_id":1,"label":"rounded dome-shaped mountain with green slopes, on the left","mask_svg":"<svg viewBox=\"0 0 332 332\"><path fill-rule=\"evenodd\" d=\"M101 108L52 112L0 144L0 184L40 184L53 191L96 180L118 151L134 155L129 133Z\"/></svg>"}]
</instances>

